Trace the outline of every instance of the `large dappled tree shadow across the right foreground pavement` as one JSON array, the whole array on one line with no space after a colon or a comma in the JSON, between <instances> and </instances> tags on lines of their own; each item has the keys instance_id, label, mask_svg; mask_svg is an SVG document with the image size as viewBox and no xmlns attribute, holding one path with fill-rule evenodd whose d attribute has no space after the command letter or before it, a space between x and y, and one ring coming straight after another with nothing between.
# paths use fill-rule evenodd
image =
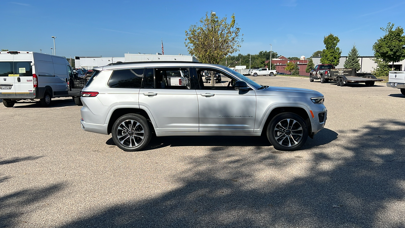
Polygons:
<instances>
[{"instance_id":1,"label":"large dappled tree shadow across the right foreground pavement","mask_svg":"<svg viewBox=\"0 0 405 228\"><path fill-rule=\"evenodd\" d=\"M215 147L188 158L181 187L61 227L405 227L404 129L371 122L306 160Z\"/></svg>"}]
</instances>

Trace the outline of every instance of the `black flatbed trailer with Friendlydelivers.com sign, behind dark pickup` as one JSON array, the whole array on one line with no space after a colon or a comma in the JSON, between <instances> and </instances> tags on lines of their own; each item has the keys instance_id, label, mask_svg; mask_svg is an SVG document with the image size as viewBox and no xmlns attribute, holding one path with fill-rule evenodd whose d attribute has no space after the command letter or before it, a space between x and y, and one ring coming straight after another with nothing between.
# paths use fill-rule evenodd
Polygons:
<instances>
[{"instance_id":1,"label":"black flatbed trailer with Friendlydelivers.com sign, behind dark pickup","mask_svg":"<svg viewBox=\"0 0 405 228\"><path fill-rule=\"evenodd\" d=\"M375 82L385 81L384 79L379 79L374 75L362 75L356 73L355 68L348 69L329 69L328 80L336 81L337 86L345 86L348 83L362 83L364 82L367 86L373 86Z\"/></svg>"}]
</instances>

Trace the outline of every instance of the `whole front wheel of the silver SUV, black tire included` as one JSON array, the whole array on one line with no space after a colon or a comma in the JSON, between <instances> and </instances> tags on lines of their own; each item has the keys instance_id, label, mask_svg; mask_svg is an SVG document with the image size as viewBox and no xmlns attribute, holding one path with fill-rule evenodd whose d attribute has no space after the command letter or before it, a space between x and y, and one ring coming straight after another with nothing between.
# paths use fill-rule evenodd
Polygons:
<instances>
[{"instance_id":1,"label":"whole front wheel of the silver SUV, black tire included","mask_svg":"<svg viewBox=\"0 0 405 228\"><path fill-rule=\"evenodd\" d=\"M290 120L288 121L288 119ZM284 131L284 129L286 129L286 131ZM266 133L267 139L269 139L274 148L279 151L296 151L305 144L308 138L308 129L304 119L292 112L283 112L275 116L270 121ZM301 134L301 136L299 134ZM283 136L285 137L282 138ZM279 140L280 138L282 139ZM292 145L291 142L294 145Z\"/></svg>"}]
</instances>

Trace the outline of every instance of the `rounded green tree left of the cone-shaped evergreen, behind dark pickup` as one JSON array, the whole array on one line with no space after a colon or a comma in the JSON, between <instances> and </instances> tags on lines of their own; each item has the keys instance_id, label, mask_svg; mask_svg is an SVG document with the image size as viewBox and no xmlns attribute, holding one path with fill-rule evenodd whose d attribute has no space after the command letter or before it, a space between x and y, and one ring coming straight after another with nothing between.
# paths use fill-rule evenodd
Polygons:
<instances>
[{"instance_id":1,"label":"rounded green tree left of the cone-shaped evergreen, behind dark pickup","mask_svg":"<svg viewBox=\"0 0 405 228\"><path fill-rule=\"evenodd\" d=\"M342 54L340 48L337 47L339 41L339 37L334 36L332 33L324 37L325 49L322 50L322 58L320 59L322 64L339 65L340 55Z\"/></svg>"}]
</instances>

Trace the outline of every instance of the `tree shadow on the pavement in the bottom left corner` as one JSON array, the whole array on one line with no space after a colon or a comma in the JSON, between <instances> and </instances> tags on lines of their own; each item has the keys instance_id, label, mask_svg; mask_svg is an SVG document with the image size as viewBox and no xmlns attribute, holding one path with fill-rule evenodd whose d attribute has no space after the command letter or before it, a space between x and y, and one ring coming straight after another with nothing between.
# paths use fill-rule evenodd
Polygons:
<instances>
[{"instance_id":1,"label":"tree shadow on the pavement in the bottom left corner","mask_svg":"<svg viewBox=\"0 0 405 228\"><path fill-rule=\"evenodd\" d=\"M64 189L64 184L58 183L47 187L26 189L1 196L0 227L20 226L22 221L19 218L21 216L32 212L35 204L49 198L62 189Z\"/></svg>"}]
</instances>

